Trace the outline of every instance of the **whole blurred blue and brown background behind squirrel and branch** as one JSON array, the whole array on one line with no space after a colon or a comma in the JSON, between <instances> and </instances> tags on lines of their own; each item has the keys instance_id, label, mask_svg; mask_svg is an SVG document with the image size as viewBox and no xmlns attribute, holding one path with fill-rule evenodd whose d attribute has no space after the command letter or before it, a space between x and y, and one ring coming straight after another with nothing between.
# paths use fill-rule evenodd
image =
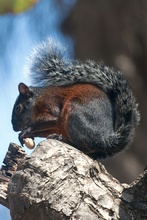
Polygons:
<instances>
[{"instance_id":1,"label":"whole blurred blue and brown background behind squirrel and branch","mask_svg":"<svg viewBox=\"0 0 147 220\"><path fill-rule=\"evenodd\" d=\"M50 36L67 47L69 58L103 59L126 74L139 103L141 122L130 148L102 163L119 181L131 183L147 164L146 0L27 3L0 0L0 164L9 143L19 144L18 133L11 126L11 112L18 83L30 84L24 74L26 57L32 47ZM0 220L8 219L9 210L0 205Z\"/></svg>"}]
</instances>

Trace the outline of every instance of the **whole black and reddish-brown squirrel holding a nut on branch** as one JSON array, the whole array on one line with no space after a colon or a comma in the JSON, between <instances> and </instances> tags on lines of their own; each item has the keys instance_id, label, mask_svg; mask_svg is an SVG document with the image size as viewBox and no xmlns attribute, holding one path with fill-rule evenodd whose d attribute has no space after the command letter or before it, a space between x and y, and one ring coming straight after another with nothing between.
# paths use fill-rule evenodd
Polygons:
<instances>
[{"instance_id":1,"label":"whole black and reddish-brown squirrel holding a nut on branch","mask_svg":"<svg viewBox=\"0 0 147 220\"><path fill-rule=\"evenodd\" d=\"M59 137L93 159L113 156L132 142L140 120L129 84L103 61L67 60L63 51L52 41L35 49L33 86L18 86L13 129L22 145L27 137Z\"/></svg>"}]
</instances>

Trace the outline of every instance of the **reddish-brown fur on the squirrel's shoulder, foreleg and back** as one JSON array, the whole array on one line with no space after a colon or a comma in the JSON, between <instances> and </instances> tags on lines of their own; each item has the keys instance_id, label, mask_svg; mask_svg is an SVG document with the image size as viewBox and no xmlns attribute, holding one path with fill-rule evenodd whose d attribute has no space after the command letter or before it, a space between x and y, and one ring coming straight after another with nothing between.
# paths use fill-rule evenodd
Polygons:
<instances>
[{"instance_id":1,"label":"reddish-brown fur on the squirrel's shoulder, foreleg and back","mask_svg":"<svg viewBox=\"0 0 147 220\"><path fill-rule=\"evenodd\" d=\"M40 137L47 137L53 133L62 134L64 138L69 140L68 121L72 111L74 111L75 103L77 105L84 104L92 99L104 96L106 94L92 84L46 88L44 94L36 100L34 121L37 119L38 126L32 133L34 136ZM47 124L49 121L53 121L50 126ZM45 122L47 123L45 124Z\"/></svg>"}]
</instances>

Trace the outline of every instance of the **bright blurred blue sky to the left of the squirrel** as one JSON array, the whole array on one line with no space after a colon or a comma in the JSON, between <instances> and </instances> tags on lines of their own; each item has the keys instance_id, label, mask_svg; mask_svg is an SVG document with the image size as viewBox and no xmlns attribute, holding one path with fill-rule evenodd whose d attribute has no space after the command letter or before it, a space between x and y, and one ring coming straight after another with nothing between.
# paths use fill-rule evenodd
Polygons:
<instances>
[{"instance_id":1,"label":"bright blurred blue sky to the left of the squirrel","mask_svg":"<svg viewBox=\"0 0 147 220\"><path fill-rule=\"evenodd\" d=\"M67 45L69 54L72 54L71 40L63 36L58 29L64 16L52 2L42 0L27 12L0 16L0 165L9 143L19 144L18 133L12 129L11 113L18 95L19 82L30 84L23 73L31 48L51 36ZM28 154L31 153L28 149L25 150ZM3 219L11 218L9 210L0 205L0 220Z\"/></svg>"}]
</instances>

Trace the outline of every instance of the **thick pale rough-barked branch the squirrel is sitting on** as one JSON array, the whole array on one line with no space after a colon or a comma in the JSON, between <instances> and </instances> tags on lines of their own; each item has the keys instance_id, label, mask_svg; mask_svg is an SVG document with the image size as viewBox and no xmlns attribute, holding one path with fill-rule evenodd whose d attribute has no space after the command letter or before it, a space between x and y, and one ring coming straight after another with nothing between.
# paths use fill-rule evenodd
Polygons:
<instances>
[{"instance_id":1,"label":"thick pale rough-barked branch the squirrel is sitting on","mask_svg":"<svg viewBox=\"0 0 147 220\"><path fill-rule=\"evenodd\" d=\"M101 163L57 140L41 142L13 175L13 220L147 219L147 172L121 184Z\"/></svg>"}]
</instances>

